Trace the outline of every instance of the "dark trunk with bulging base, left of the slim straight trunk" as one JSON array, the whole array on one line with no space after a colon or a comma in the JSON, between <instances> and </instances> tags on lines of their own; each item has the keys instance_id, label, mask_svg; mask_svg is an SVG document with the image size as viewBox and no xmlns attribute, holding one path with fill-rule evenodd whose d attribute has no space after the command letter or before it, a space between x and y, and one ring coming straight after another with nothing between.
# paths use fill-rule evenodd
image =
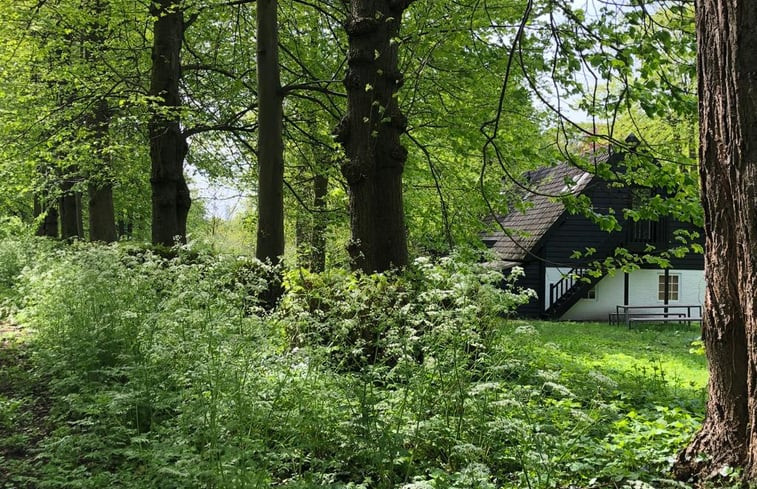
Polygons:
<instances>
[{"instance_id":1,"label":"dark trunk with bulging base, left of the slim straight trunk","mask_svg":"<svg viewBox=\"0 0 757 489\"><path fill-rule=\"evenodd\" d=\"M150 96L156 107L150 120L152 172L152 242L172 246L186 242L187 214L191 205L184 179L187 141L181 132L179 80L184 13L180 0L158 0L151 4L153 25Z\"/></svg>"}]
</instances>

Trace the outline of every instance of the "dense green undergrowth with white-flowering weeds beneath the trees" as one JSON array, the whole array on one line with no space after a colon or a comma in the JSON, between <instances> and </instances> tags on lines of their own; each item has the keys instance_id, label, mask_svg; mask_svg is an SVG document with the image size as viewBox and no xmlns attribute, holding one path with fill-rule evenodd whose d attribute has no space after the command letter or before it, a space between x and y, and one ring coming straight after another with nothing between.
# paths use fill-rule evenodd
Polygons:
<instances>
[{"instance_id":1,"label":"dense green undergrowth with white-flowering weeds beneath the trees","mask_svg":"<svg viewBox=\"0 0 757 489\"><path fill-rule=\"evenodd\" d=\"M0 487L680 487L701 422L701 385L503 319L528 293L460 259L294 270L273 313L247 259L7 237L0 261L3 310L33 330L23 383L49 399ZM40 395L19 392L0 389L5 444Z\"/></svg>"}]
</instances>

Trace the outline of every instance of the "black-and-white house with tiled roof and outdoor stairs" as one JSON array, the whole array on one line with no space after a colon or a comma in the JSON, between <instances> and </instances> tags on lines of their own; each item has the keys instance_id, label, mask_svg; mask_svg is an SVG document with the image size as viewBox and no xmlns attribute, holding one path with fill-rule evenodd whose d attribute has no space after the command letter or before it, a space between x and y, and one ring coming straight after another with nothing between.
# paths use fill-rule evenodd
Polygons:
<instances>
[{"instance_id":1,"label":"black-and-white house with tiled roof and outdoor stairs","mask_svg":"<svg viewBox=\"0 0 757 489\"><path fill-rule=\"evenodd\" d=\"M597 156L594 163L617 167L622 160L622 153L607 152ZM518 285L537 293L535 299L519 308L520 314L607 321L619 304L701 305L704 302L701 254L689 252L673 258L666 269L642 265L638 270L624 273L595 267L592 274L588 267L589 262L613 256L618 248L637 253L649 249L649 245L657 250L668 249L675 243L673 232L677 229L698 232L701 244L701 230L670 218L624 220L623 209L633 208L634 190L613 186L575 165L562 163L532 171L526 174L526 180L530 191L522 194L527 201L521 206L525 210L513 210L498 217L504 229L483 238L501 268L507 271L516 265L522 267L525 276ZM585 195L595 212L614 213L622 230L603 231L587 217L571 214L560 199L554 198L565 194ZM589 258L575 254L587 248L595 250Z\"/></svg>"}]
</instances>

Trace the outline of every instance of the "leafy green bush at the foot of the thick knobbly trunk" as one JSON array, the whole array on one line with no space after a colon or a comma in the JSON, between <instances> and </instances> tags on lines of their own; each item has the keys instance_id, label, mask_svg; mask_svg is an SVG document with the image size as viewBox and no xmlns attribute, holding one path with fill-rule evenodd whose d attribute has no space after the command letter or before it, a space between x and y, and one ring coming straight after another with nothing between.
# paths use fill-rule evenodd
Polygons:
<instances>
[{"instance_id":1,"label":"leafy green bush at the foot of the thick knobbly trunk","mask_svg":"<svg viewBox=\"0 0 757 489\"><path fill-rule=\"evenodd\" d=\"M533 296L515 289L519 276L505 281L456 257L419 258L403 273L295 270L279 314L294 346L326 347L340 370L422 361L453 346L483 353L501 317Z\"/></svg>"}]
</instances>

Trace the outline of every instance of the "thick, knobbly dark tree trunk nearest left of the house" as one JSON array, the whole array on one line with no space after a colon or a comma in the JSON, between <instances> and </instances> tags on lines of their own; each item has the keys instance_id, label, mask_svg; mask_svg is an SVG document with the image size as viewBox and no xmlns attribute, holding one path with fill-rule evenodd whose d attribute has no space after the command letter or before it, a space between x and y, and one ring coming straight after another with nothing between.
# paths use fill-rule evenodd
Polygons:
<instances>
[{"instance_id":1,"label":"thick, knobbly dark tree trunk nearest left of the house","mask_svg":"<svg viewBox=\"0 0 757 489\"><path fill-rule=\"evenodd\" d=\"M400 144L407 121L395 98L403 78L395 41L410 3L351 0L346 22L347 115L337 138L347 154L342 174L350 188L350 256L354 268L369 273L408 261L402 203L407 150Z\"/></svg>"}]
</instances>

